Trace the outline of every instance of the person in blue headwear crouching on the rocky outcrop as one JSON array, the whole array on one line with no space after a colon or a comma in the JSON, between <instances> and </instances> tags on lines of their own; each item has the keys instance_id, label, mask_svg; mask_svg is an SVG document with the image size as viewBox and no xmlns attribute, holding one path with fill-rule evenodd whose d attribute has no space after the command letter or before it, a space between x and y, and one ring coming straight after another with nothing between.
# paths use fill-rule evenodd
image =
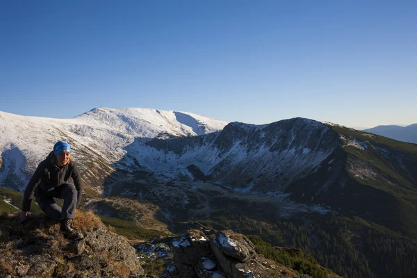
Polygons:
<instances>
[{"instance_id":1,"label":"person in blue headwear crouching on the rocky outcrop","mask_svg":"<svg viewBox=\"0 0 417 278\"><path fill-rule=\"evenodd\" d=\"M67 183L70 177L74 186ZM83 234L72 227L72 220L76 208L81 203L82 195L83 183L78 167L71 159L71 145L67 141L56 142L54 150L38 165L24 190L20 220L26 220L32 199L35 197L47 217L60 222L60 233L65 238L82 238ZM64 199L62 208L56 204L54 197Z\"/></svg>"}]
</instances>

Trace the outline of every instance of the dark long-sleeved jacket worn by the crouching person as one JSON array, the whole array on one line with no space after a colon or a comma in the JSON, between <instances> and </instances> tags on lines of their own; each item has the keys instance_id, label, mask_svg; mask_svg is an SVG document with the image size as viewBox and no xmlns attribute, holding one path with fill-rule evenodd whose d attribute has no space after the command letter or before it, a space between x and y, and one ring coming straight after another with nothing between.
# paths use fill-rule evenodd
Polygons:
<instances>
[{"instance_id":1,"label":"dark long-sleeved jacket worn by the crouching person","mask_svg":"<svg viewBox=\"0 0 417 278\"><path fill-rule=\"evenodd\" d=\"M23 195L22 211L29 211L31 209L31 202L33 196L38 194L38 190L48 192L61 186L63 183L67 183L67 180L72 178L74 186L77 191L77 202L78 207L83 196L83 183L79 174L78 167L74 161L70 161L67 165L62 168L56 165L56 156L54 152L51 152L47 158L39 163L36 168L31 180L29 181Z\"/></svg>"}]
</instances>

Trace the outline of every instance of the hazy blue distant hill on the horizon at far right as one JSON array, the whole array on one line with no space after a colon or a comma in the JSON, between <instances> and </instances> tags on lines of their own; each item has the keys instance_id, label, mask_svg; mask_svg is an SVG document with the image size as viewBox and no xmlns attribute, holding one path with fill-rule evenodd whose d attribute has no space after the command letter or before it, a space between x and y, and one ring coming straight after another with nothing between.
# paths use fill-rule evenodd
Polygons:
<instances>
[{"instance_id":1,"label":"hazy blue distant hill on the horizon at far right","mask_svg":"<svg viewBox=\"0 0 417 278\"><path fill-rule=\"evenodd\" d=\"M363 129L363 131L403 142L417 143L417 124L410 124L409 126L375 126L372 129Z\"/></svg>"}]
</instances>

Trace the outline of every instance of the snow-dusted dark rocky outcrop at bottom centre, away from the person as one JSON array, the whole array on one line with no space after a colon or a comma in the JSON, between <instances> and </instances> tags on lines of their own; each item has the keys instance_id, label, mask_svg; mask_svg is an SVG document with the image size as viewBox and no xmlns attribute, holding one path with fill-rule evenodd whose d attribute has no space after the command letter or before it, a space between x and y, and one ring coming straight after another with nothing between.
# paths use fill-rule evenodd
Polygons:
<instances>
[{"instance_id":1,"label":"snow-dusted dark rocky outcrop at bottom centre, away from the person","mask_svg":"<svg viewBox=\"0 0 417 278\"><path fill-rule=\"evenodd\" d=\"M174 240L172 253L167 278L297 277L293 270L257 254L247 237L233 231L187 231Z\"/></svg>"}]
</instances>

